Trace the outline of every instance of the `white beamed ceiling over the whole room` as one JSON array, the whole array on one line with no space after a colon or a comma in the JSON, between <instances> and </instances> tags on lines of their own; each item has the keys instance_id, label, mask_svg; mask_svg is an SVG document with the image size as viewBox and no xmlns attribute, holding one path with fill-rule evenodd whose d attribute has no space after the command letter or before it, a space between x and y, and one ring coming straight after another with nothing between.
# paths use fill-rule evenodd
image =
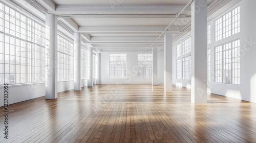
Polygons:
<instances>
[{"instance_id":1,"label":"white beamed ceiling over the whole room","mask_svg":"<svg viewBox=\"0 0 256 143\"><path fill-rule=\"evenodd\" d=\"M190 0L33 0L86 35L102 52L146 52ZM207 0L209 5L213 1ZM169 28L174 36L190 22L188 6ZM188 29L189 30L189 29ZM112 37L112 38L111 38ZM163 38L155 47L163 47ZM160 48L161 49L161 48Z\"/></svg>"}]
</instances>

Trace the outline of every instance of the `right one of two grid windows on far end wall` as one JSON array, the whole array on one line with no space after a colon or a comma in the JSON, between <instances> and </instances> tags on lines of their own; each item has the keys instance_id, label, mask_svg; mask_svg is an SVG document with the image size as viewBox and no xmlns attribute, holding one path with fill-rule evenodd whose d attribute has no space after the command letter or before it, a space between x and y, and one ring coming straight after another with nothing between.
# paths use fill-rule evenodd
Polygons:
<instances>
[{"instance_id":1,"label":"right one of two grid windows on far end wall","mask_svg":"<svg viewBox=\"0 0 256 143\"><path fill-rule=\"evenodd\" d=\"M152 78L153 55L138 54L138 78Z\"/></svg>"}]
</instances>

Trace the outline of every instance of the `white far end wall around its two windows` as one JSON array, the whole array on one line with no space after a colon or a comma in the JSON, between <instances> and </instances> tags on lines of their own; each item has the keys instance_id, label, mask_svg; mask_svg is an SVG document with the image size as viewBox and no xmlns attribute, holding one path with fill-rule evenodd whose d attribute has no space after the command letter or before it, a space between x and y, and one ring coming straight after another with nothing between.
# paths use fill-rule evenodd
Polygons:
<instances>
[{"instance_id":1,"label":"white far end wall around its two windows","mask_svg":"<svg viewBox=\"0 0 256 143\"><path fill-rule=\"evenodd\" d=\"M109 53L100 54L100 84L152 84L152 79L138 78L137 60L138 53L126 53L127 78L110 79L109 78ZM163 53L158 53L158 83L163 83ZM160 75L160 76L159 76Z\"/></svg>"}]
</instances>

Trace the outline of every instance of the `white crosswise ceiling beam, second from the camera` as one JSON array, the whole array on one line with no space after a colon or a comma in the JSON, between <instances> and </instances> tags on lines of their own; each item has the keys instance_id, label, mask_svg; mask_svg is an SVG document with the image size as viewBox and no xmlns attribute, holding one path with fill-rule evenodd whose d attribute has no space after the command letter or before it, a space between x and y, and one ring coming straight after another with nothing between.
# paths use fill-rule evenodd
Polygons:
<instances>
[{"instance_id":1,"label":"white crosswise ceiling beam, second from the camera","mask_svg":"<svg viewBox=\"0 0 256 143\"><path fill-rule=\"evenodd\" d=\"M79 26L78 31L83 33L148 33L163 32L165 26ZM169 31L180 32L184 26L170 26Z\"/></svg>"}]
</instances>

